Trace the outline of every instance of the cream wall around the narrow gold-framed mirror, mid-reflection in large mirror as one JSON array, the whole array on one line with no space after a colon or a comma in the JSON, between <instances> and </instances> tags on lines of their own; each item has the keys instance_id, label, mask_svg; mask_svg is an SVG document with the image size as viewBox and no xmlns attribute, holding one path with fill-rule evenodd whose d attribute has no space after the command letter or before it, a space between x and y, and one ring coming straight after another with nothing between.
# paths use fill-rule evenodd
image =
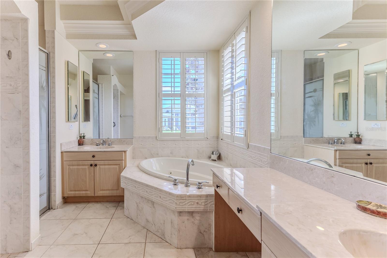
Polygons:
<instances>
[{"instance_id":1,"label":"cream wall around the narrow gold-framed mirror, mid-reflection in large mirror","mask_svg":"<svg viewBox=\"0 0 387 258\"><path fill-rule=\"evenodd\" d=\"M348 136L349 132L357 131L357 99L358 99L358 52L352 51L336 58L324 58L324 137ZM333 119L333 75L349 70L349 120ZM346 127L340 124L345 123Z\"/></svg>"}]
</instances>

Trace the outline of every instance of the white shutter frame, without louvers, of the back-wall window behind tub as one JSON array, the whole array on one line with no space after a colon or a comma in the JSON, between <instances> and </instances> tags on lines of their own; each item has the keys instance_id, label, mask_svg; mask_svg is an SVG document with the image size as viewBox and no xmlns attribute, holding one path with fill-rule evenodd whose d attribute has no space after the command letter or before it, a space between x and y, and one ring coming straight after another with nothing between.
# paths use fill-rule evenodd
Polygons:
<instances>
[{"instance_id":1,"label":"white shutter frame, without louvers, of the back-wall window behind tub","mask_svg":"<svg viewBox=\"0 0 387 258\"><path fill-rule=\"evenodd\" d=\"M173 53L173 54L180 54L180 64L182 66L185 65L185 58L187 54L203 54L204 55L204 93L198 93L198 95L203 95L204 97L204 133L188 133L191 134L190 137L187 137L187 132L186 132L186 98L187 95L195 96L195 93L186 93L186 85L185 85L185 69L181 69L180 76L181 76L181 85L180 85L180 93L172 93L172 94L180 94L180 122L181 122L181 130L180 133L170 133L171 137L166 137L168 133L163 133L162 132L162 98L163 98L163 92L161 87L161 81L160 81L160 76L161 76L161 55L162 54L168 54L168 53ZM166 140L171 140L171 139L208 139L207 137L207 132L208 132L208 108L207 108L207 92L208 92L208 87L209 87L209 76L208 76L208 71L209 71L209 57L210 57L210 51L209 50L156 50L156 85L157 85L157 106L156 106L156 111L157 111L157 124L156 124L156 131L157 131L157 139L166 139ZM184 85L183 85L184 84ZM182 90L184 88L184 90ZM168 93L164 93L168 94ZM199 98L202 96L198 96ZM184 119L183 119L184 118ZM180 136L179 136L180 134ZM195 134L195 135L192 135ZM203 136L200 136L198 134L203 134ZM189 136L189 135L188 135Z\"/></svg>"}]
</instances>

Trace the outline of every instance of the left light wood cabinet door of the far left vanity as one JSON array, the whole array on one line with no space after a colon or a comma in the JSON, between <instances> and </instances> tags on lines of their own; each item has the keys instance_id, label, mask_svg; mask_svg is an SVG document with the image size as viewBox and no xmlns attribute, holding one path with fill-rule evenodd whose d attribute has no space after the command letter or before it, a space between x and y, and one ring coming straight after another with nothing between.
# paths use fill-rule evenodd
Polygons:
<instances>
[{"instance_id":1,"label":"left light wood cabinet door of the far left vanity","mask_svg":"<svg viewBox=\"0 0 387 258\"><path fill-rule=\"evenodd\" d=\"M94 162L63 162L63 196L94 196Z\"/></svg>"}]
</instances>

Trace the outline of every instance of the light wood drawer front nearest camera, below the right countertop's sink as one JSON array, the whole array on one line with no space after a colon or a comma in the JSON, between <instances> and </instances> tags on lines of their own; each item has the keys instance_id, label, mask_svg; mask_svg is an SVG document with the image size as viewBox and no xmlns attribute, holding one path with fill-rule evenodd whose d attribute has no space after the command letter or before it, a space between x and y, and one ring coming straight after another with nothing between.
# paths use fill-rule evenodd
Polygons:
<instances>
[{"instance_id":1,"label":"light wood drawer front nearest camera, below the right countertop's sink","mask_svg":"<svg viewBox=\"0 0 387 258\"><path fill-rule=\"evenodd\" d=\"M262 216L262 241L276 257L308 257L265 216Z\"/></svg>"}]
</instances>

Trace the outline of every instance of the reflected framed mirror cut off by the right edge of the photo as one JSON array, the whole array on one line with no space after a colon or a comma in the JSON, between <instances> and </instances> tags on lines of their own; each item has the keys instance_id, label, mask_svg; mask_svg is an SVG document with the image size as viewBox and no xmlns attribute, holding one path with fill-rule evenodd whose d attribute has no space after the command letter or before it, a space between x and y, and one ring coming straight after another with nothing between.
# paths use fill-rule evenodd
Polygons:
<instances>
[{"instance_id":1,"label":"reflected framed mirror cut off by the right edge of the photo","mask_svg":"<svg viewBox=\"0 0 387 258\"><path fill-rule=\"evenodd\" d=\"M364 65L364 120L386 120L387 60Z\"/></svg>"}]
</instances>

